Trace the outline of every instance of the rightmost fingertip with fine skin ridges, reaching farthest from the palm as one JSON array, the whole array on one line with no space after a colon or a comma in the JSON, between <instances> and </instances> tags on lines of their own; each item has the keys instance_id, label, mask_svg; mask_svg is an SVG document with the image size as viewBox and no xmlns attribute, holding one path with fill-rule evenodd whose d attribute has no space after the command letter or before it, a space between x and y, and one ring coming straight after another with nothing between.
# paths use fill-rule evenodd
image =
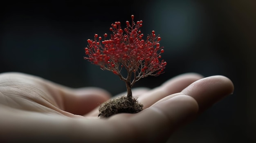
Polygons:
<instances>
[{"instance_id":1,"label":"rightmost fingertip with fine skin ridges, reaching farthest from the palm","mask_svg":"<svg viewBox=\"0 0 256 143\"><path fill-rule=\"evenodd\" d=\"M193 97L198 102L201 112L233 92L232 81L221 75L200 79L182 90L183 94Z\"/></svg>"}]
</instances>

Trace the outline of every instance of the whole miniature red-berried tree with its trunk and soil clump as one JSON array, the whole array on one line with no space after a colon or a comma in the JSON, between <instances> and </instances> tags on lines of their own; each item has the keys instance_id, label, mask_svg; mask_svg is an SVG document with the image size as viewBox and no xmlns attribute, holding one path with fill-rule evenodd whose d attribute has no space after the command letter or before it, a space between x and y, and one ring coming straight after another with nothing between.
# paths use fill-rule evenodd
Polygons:
<instances>
[{"instance_id":1,"label":"whole miniature red-berried tree with its trunk and soil clump","mask_svg":"<svg viewBox=\"0 0 256 143\"><path fill-rule=\"evenodd\" d=\"M113 32L109 40L106 40L107 34L104 34L104 40L97 34L94 40L88 39L88 46L85 48L84 57L92 64L99 65L102 70L112 71L115 75L126 83L127 96L118 97L101 104L99 108L99 117L110 117L112 114L121 112L137 113L143 107L141 103L132 97L132 86L136 81L149 75L158 76L163 73L166 62L161 59L161 53L164 53L163 47L160 47L161 37L152 31L143 40L143 33L140 31L142 20L126 21L126 28L121 29L121 22L111 24L110 31ZM125 76L121 71L125 70Z\"/></svg>"}]
</instances>

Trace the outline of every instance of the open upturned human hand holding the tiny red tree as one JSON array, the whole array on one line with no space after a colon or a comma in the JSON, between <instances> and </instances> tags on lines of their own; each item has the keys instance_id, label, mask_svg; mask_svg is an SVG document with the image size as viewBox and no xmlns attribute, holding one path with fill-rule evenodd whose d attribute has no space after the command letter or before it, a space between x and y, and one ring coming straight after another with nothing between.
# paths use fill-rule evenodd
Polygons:
<instances>
[{"instance_id":1,"label":"open upturned human hand holding the tiny red tree","mask_svg":"<svg viewBox=\"0 0 256 143\"><path fill-rule=\"evenodd\" d=\"M111 97L105 90L72 89L32 75L2 73L0 142L164 143L233 90L224 76L183 74L152 90L133 89L144 105L141 112L99 119L99 103Z\"/></svg>"}]
</instances>

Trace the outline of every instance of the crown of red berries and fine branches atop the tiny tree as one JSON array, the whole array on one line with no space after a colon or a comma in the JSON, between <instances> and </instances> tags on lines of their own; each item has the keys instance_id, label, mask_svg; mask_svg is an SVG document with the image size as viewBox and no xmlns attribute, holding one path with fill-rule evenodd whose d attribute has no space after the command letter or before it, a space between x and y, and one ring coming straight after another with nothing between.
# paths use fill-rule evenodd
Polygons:
<instances>
[{"instance_id":1,"label":"crown of red berries and fine branches atop the tiny tree","mask_svg":"<svg viewBox=\"0 0 256 143\"><path fill-rule=\"evenodd\" d=\"M164 53L163 47L160 47L161 37L155 35L152 31L143 40L143 33L139 30L142 26L142 20L133 21L134 15L131 16L132 23L126 21L126 28L121 29L121 22L112 24L110 31L113 32L109 40L106 40L107 34L104 34L104 40L97 34L94 40L88 39L88 47L85 48L84 57L92 64L99 65L103 70L110 70L121 76L120 71L125 68L128 73L134 73L135 79L148 75L159 75L163 73L166 66L161 58Z\"/></svg>"}]
</instances>

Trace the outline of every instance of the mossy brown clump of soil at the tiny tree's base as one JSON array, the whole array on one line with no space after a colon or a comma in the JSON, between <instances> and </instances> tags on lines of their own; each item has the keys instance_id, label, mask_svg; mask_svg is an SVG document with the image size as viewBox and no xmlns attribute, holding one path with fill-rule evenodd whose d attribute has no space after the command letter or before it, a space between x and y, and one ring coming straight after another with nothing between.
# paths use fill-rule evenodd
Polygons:
<instances>
[{"instance_id":1,"label":"mossy brown clump of soil at the tiny tree's base","mask_svg":"<svg viewBox=\"0 0 256 143\"><path fill-rule=\"evenodd\" d=\"M121 96L102 103L98 117L106 118L118 113L137 113L143 110L142 107L137 99Z\"/></svg>"}]
</instances>

